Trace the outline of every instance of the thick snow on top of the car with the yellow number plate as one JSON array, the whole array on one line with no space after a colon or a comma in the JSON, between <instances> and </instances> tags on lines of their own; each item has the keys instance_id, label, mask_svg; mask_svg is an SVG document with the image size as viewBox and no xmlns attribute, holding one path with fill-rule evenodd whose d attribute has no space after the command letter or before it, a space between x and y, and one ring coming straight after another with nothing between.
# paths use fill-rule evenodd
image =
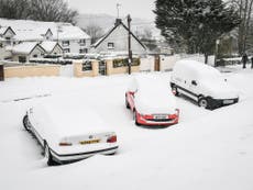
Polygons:
<instances>
[{"instance_id":1,"label":"thick snow on top of the car with the yellow number plate","mask_svg":"<svg viewBox=\"0 0 253 190\"><path fill-rule=\"evenodd\" d=\"M111 132L91 108L61 101L34 107L36 116L44 119L44 127L53 127L59 137Z\"/></svg>"}]
</instances>

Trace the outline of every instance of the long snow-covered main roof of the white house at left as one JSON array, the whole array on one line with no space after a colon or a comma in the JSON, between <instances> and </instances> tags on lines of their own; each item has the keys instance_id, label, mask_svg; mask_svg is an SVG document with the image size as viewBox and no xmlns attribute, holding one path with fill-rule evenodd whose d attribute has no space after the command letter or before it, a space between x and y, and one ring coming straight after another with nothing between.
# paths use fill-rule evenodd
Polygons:
<instances>
[{"instance_id":1,"label":"long snow-covered main roof of the white house at left","mask_svg":"<svg viewBox=\"0 0 253 190\"><path fill-rule=\"evenodd\" d=\"M16 34L16 41L42 41L48 30L52 31L54 40L90 38L80 27L70 23L0 19L0 25L1 29L11 26Z\"/></svg>"}]
</instances>

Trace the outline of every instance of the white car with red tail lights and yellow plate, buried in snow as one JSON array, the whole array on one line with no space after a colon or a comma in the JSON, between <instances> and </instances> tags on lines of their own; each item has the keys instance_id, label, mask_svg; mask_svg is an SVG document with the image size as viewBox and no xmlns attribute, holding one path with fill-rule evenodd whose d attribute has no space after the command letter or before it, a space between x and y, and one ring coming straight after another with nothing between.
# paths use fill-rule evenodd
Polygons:
<instances>
[{"instance_id":1,"label":"white car with red tail lights and yellow plate, buried in snow","mask_svg":"<svg viewBox=\"0 0 253 190\"><path fill-rule=\"evenodd\" d=\"M36 105L26 111L23 125L37 138L48 166L118 149L117 134L87 108Z\"/></svg>"}]
</instances>

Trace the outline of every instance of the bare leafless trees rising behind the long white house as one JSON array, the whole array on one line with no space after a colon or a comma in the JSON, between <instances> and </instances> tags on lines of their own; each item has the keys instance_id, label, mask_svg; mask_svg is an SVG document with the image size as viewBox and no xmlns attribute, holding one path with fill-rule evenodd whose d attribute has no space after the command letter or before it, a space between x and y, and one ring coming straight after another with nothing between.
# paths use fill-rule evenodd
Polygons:
<instances>
[{"instance_id":1,"label":"bare leafless trees rising behind the long white house","mask_svg":"<svg viewBox=\"0 0 253 190\"><path fill-rule=\"evenodd\" d=\"M0 0L0 16L75 23L77 11L64 0Z\"/></svg>"}]
</instances>

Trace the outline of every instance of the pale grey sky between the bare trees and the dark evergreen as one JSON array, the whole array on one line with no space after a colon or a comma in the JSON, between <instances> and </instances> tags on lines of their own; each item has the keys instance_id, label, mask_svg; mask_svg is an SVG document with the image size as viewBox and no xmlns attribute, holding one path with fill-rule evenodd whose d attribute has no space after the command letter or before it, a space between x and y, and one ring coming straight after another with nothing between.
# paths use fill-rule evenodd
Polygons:
<instances>
[{"instance_id":1,"label":"pale grey sky between the bare trees and the dark evergreen","mask_svg":"<svg viewBox=\"0 0 253 190\"><path fill-rule=\"evenodd\" d=\"M120 3L120 16L131 14L133 18L154 20L155 0L66 0L70 8L79 13L107 13L117 15L117 3Z\"/></svg>"}]
</instances>

